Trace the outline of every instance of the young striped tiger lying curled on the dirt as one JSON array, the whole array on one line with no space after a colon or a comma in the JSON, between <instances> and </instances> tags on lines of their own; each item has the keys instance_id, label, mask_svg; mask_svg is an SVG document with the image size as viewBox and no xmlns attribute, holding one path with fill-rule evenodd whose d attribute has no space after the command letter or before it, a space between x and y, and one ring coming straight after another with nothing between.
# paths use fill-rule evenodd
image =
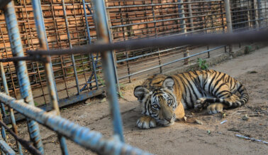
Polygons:
<instances>
[{"instance_id":1,"label":"young striped tiger lying curled on the dirt","mask_svg":"<svg viewBox=\"0 0 268 155\"><path fill-rule=\"evenodd\" d=\"M240 97L235 95L240 93ZM157 124L169 126L184 118L184 109L207 107L208 114L240 107L249 99L245 87L233 77L216 70L196 70L172 76L152 75L134 89L145 116L138 119L140 129Z\"/></svg>"}]
</instances>

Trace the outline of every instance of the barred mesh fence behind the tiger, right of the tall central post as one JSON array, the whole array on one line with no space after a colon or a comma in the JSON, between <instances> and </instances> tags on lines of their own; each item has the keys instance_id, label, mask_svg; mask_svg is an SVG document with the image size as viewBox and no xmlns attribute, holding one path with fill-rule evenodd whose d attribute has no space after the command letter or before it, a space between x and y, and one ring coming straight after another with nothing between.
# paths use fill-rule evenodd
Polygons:
<instances>
[{"instance_id":1,"label":"barred mesh fence behind the tiger, right of the tall central post","mask_svg":"<svg viewBox=\"0 0 268 155\"><path fill-rule=\"evenodd\" d=\"M234 31L266 28L267 25L264 23L265 4L266 1L231 1L231 22ZM106 1L106 5L114 42L147 37L228 32L224 1L111 0ZM261 17L259 18L257 15ZM262 24L259 25L259 23ZM197 58L209 58L225 53L228 51L228 46L118 50L116 51L118 78L120 82L124 83L146 77L148 74L164 73L184 65L183 61L169 64L170 61L205 50L208 52L194 56L190 59L190 63L196 62ZM153 69L150 70L150 68ZM144 72L141 72L143 70Z\"/></svg>"}]
</instances>

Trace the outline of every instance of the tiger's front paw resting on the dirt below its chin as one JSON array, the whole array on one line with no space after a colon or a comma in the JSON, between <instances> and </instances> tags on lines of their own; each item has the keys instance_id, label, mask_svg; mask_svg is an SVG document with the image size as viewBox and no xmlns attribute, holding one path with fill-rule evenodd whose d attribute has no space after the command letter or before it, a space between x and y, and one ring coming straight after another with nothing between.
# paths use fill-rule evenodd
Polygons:
<instances>
[{"instance_id":1,"label":"tiger's front paw resting on the dirt below its chin","mask_svg":"<svg viewBox=\"0 0 268 155\"><path fill-rule=\"evenodd\" d=\"M150 128L156 127L156 125L157 123L155 119L150 116L140 117L140 119L138 119L137 121L137 126L140 129L150 129Z\"/></svg>"}]
</instances>

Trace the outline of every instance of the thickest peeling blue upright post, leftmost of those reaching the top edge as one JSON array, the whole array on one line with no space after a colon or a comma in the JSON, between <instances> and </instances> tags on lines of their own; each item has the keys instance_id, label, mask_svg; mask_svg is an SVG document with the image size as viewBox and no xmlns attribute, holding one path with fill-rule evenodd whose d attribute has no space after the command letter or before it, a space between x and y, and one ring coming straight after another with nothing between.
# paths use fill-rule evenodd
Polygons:
<instances>
[{"instance_id":1,"label":"thickest peeling blue upright post, leftmost of those reaching the top edge","mask_svg":"<svg viewBox=\"0 0 268 155\"><path fill-rule=\"evenodd\" d=\"M24 56L13 1L6 5L6 7L4 8L4 14L6 17L6 25L9 31L9 40L11 43L11 50L13 56ZM30 81L28 78L28 71L26 69L26 62L18 61L15 63L15 66L18 76L18 83L20 85L21 97L23 97L25 102L27 102L29 105L34 106L35 104L33 102L33 95L30 89ZM30 139L33 141L34 146L41 153L44 153L43 143L40 139L40 130L38 124L30 119L27 119L27 122Z\"/></svg>"}]
</instances>

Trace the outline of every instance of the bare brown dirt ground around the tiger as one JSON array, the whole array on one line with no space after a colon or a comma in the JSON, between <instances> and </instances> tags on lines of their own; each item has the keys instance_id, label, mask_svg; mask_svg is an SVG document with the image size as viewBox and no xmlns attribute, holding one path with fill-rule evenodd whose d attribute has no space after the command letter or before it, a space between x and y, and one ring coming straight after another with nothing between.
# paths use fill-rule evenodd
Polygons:
<instances>
[{"instance_id":1,"label":"bare brown dirt ground around the tiger","mask_svg":"<svg viewBox=\"0 0 268 155\"><path fill-rule=\"evenodd\" d=\"M187 110L187 122L176 122L171 127L138 129L141 116L133 90L125 92L120 100L125 143L152 154L267 154L268 144L235 136L252 137L268 141L268 48L259 49L225 63L212 66L240 80L250 94L245 106L208 115L205 111ZM247 114L248 120L242 117ZM113 134L108 102L91 99L62 109L62 117L110 137ZM195 119L203 122L196 124ZM227 122L220 124L226 120ZM20 124L20 135L28 139L26 125ZM54 132L40 127L46 154L60 154L60 145ZM67 141L69 154L94 154Z\"/></svg>"}]
</instances>

